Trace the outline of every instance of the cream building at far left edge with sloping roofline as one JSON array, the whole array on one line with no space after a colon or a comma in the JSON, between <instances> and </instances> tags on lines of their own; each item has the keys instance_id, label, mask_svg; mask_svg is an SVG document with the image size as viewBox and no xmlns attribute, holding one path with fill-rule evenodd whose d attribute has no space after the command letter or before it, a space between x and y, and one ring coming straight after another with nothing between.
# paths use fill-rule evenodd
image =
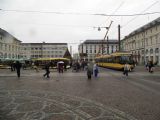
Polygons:
<instances>
[{"instance_id":1,"label":"cream building at far left edge with sloping roofline","mask_svg":"<svg viewBox=\"0 0 160 120\"><path fill-rule=\"evenodd\" d=\"M0 28L0 59L17 60L21 58L21 41Z\"/></svg>"}]
</instances>

